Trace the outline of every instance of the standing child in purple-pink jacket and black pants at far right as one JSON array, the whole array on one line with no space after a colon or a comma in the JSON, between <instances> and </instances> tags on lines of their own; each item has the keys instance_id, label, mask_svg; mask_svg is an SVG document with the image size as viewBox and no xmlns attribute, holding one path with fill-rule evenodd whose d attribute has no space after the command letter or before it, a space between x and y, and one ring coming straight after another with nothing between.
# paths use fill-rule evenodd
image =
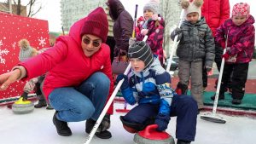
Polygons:
<instances>
[{"instance_id":1,"label":"standing child in purple-pink jacket and black pants at far right","mask_svg":"<svg viewBox=\"0 0 256 144\"><path fill-rule=\"evenodd\" d=\"M228 35L226 53L223 55L225 64L222 77L219 100L224 100L226 84L232 77L232 104L239 105L245 93L249 62L253 57L255 28L254 18L250 14L247 3L236 3L232 16L219 26L216 32L216 41L225 48L225 36ZM214 100L212 96L212 100Z\"/></svg>"}]
</instances>

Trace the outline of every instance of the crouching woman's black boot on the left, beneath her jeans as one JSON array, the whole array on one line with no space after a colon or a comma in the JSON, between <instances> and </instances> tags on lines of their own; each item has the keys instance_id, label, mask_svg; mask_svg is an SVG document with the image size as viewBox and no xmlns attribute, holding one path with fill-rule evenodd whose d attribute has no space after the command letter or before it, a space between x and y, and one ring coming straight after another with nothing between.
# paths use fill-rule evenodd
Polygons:
<instances>
[{"instance_id":1,"label":"crouching woman's black boot on the left, beneath her jeans","mask_svg":"<svg viewBox=\"0 0 256 144\"><path fill-rule=\"evenodd\" d=\"M55 112L55 115L53 117L53 123L55 124L57 133L61 136L70 136L72 135L72 131L67 126L67 122L61 121L57 119L57 112Z\"/></svg>"}]
</instances>

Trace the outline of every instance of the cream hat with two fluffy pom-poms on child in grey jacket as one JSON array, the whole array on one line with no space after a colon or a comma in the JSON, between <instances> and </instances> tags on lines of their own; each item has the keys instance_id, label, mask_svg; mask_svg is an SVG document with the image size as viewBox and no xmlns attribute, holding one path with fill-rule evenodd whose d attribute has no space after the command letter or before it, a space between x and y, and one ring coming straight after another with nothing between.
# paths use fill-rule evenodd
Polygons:
<instances>
[{"instance_id":1,"label":"cream hat with two fluffy pom-poms on child in grey jacket","mask_svg":"<svg viewBox=\"0 0 256 144\"><path fill-rule=\"evenodd\" d=\"M198 19L201 19L201 6L203 0L182 0L181 7L184 9L185 19L187 20L187 14L196 12L198 13Z\"/></svg>"}]
</instances>

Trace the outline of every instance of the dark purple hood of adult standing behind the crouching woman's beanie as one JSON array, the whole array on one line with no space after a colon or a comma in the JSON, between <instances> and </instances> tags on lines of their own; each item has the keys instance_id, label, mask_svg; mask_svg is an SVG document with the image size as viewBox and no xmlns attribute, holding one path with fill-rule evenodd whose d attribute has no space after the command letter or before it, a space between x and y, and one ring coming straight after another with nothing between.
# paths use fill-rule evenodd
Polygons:
<instances>
[{"instance_id":1,"label":"dark purple hood of adult standing behind the crouching woman's beanie","mask_svg":"<svg viewBox=\"0 0 256 144\"><path fill-rule=\"evenodd\" d=\"M119 14L125 10L125 7L119 0L108 0L109 3L109 15L113 20L117 20Z\"/></svg>"}]
</instances>

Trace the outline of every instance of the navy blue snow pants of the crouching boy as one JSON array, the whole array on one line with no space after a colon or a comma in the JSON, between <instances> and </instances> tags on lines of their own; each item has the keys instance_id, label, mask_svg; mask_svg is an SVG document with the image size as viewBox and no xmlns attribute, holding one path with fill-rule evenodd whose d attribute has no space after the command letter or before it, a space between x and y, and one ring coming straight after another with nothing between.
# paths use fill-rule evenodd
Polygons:
<instances>
[{"instance_id":1,"label":"navy blue snow pants of the crouching boy","mask_svg":"<svg viewBox=\"0 0 256 144\"><path fill-rule=\"evenodd\" d=\"M152 119L156 117L158 112L159 105L139 104L123 118L129 123L145 126L145 124L152 124ZM184 141L195 141L197 104L194 98L190 95L174 95L170 116L177 116L176 138Z\"/></svg>"}]
</instances>

